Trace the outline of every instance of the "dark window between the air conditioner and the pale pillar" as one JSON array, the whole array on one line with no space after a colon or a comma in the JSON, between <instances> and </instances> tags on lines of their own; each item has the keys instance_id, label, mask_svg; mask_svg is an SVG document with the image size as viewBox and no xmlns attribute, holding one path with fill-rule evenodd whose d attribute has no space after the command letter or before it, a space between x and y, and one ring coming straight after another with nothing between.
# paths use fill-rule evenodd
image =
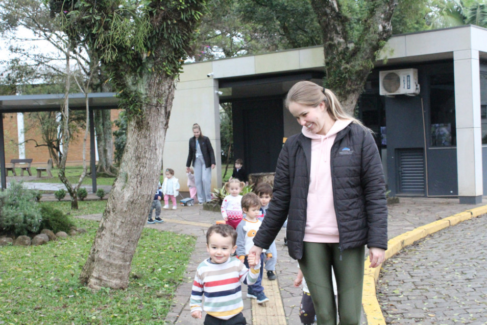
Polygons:
<instances>
[{"instance_id":1,"label":"dark window between the air conditioner and the pale pillar","mask_svg":"<svg viewBox=\"0 0 487 325\"><path fill-rule=\"evenodd\" d=\"M455 84L452 73L431 76L430 107L430 145L455 146Z\"/></svg>"}]
</instances>

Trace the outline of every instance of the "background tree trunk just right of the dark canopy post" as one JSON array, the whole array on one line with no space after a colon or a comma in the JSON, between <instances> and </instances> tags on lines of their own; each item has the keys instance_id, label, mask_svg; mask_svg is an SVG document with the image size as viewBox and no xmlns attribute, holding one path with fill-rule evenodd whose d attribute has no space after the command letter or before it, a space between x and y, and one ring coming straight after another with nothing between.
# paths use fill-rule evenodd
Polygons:
<instances>
[{"instance_id":1,"label":"background tree trunk just right of the dark canopy post","mask_svg":"<svg viewBox=\"0 0 487 325\"><path fill-rule=\"evenodd\" d=\"M113 137L110 110L97 109L94 111L96 129L96 143L98 145L97 175L115 176L117 169L113 166Z\"/></svg>"}]
</instances>

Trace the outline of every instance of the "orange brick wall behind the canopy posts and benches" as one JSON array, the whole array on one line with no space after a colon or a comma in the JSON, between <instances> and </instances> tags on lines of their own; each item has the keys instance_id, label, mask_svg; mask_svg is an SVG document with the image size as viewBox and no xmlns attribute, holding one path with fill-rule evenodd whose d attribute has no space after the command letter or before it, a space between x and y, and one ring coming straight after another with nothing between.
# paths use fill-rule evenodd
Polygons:
<instances>
[{"instance_id":1,"label":"orange brick wall behind the canopy posts and benches","mask_svg":"<svg viewBox=\"0 0 487 325\"><path fill-rule=\"evenodd\" d=\"M119 110L111 110L112 122L118 118ZM17 114L7 113L4 115L4 139L5 139L5 162L8 164L10 159L17 159L18 152L18 137L17 137ZM44 144L42 140L41 130L36 127L37 121L30 118L30 113L24 113L24 127L27 131L24 134L25 140L35 139L37 143ZM81 165L83 162L83 137L84 129L78 130L74 138L69 144L69 153L66 164L67 165ZM90 136L86 140L86 160L89 162L90 153ZM49 150L45 146L36 147L35 142L29 141L26 143L26 158L32 158L32 166L44 166L50 158Z\"/></svg>"}]
</instances>

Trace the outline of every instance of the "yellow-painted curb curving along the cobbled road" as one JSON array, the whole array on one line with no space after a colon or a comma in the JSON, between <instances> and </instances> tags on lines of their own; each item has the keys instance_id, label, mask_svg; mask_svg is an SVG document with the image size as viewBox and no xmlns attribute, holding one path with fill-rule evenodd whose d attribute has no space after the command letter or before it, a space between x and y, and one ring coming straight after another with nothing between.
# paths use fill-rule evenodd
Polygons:
<instances>
[{"instance_id":1,"label":"yellow-painted curb curving along the cobbled road","mask_svg":"<svg viewBox=\"0 0 487 325\"><path fill-rule=\"evenodd\" d=\"M487 214L487 205L473 208L465 212L455 214L450 217L437 220L427 225L418 227L411 231L407 231L402 235L394 237L387 242L387 250L385 251L385 260L393 257L404 247L425 238L428 235L436 233L436 231L445 229L449 226L456 225L462 221ZM382 315L379 301L376 296L376 283L379 278L379 273L382 265L374 269L369 268L370 262L366 259L364 263L363 272L363 291L362 291L362 306L366 314L367 323L369 325L385 325L385 318Z\"/></svg>"}]
</instances>

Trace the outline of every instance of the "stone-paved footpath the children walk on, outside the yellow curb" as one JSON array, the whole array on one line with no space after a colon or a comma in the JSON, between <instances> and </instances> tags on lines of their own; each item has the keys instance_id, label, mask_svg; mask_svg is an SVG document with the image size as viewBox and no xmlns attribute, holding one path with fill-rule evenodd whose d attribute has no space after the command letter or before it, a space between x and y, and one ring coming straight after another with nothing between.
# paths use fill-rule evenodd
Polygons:
<instances>
[{"instance_id":1,"label":"stone-paved footpath the children walk on, outside the yellow curb","mask_svg":"<svg viewBox=\"0 0 487 325\"><path fill-rule=\"evenodd\" d=\"M473 207L482 206L482 204L460 205L458 204L458 199L445 198L401 197L400 201L399 204L389 206L389 239L430 222ZM100 216L93 215L89 217L96 219ZM216 220L221 220L222 217L220 213L204 211L201 205L178 206L177 210L163 210L161 217L165 221L164 223L148 224L148 227L197 237L196 247L191 254L183 282L175 293L173 307L167 315L166 323L201 325L203 321L193 319L189 313L189 295L196 267L208 257L206 252L206 229L211 224L214 224ZM252 309L250 299L244 298L243 313L249 324L269 324L269 319L273 319L273 323L277 325L281 323L279 320L282 318L281 314L285 316L284 321L287 321L287 324L300 324L298 310L302 289L295 288L293 285L297 273L297 262L289 257L287 247L283 245L284 236L285 230L283 229L276 238L278 280L273 282L264 281L265 290L267 288L272 290L272 292L266 292L266 295L269 297L272 295L273 300L276 301L269 301L264 306L255 305ZM417 260L419 262L420 259L418 258ZM243 297L246 297L246 290L246 286L242 286ZM279 308L283 308L284 311L279 311ZM365 317L363 323L367 324Z\"/></svg>"}]
</instances>

